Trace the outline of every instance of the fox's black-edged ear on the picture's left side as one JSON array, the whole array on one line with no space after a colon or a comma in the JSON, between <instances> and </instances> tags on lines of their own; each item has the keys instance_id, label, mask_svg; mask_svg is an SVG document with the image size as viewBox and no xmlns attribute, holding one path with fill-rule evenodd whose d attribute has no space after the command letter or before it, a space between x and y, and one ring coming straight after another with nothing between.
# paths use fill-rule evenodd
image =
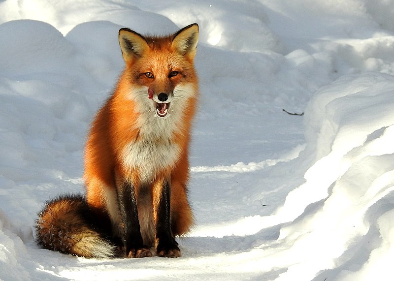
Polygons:
<instances>
[{"instance_id":1,"label":"fox's black-edged ear on the picture's left side","mask_svg":"<svg viewBox=\"0 0 394 281\"><path fill-rule=\"evenodd\" d=\"M142 35L128 28L119 30L119 45L125 62L142 57L143 53L149 48Z\"/></svg>"}]
</instances>

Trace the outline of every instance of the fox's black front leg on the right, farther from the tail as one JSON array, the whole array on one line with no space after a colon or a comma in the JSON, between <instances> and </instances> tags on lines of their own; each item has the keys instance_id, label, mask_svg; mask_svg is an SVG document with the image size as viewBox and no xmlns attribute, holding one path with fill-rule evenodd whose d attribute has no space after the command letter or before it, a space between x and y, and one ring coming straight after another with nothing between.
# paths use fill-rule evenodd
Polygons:
<instances>
[{"instance_id":1,"label":"fox's black front leg on the right, farther from the tail","mask_svg":"<svg viewBox=\"0 0 394 281\"><path fill-rule=\"evenodd\" d=\"M171 232L170 198L171 187L169 181L156 182L153 192L156 253L162 257L180 257L181 251Z\"/></svg>"}]
</instances>

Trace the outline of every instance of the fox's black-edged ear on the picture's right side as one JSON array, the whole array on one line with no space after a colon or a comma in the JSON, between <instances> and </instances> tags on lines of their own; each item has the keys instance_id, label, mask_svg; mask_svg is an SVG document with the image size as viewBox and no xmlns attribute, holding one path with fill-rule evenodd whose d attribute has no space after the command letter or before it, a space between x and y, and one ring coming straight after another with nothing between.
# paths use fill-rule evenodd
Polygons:
<instances>
[{"instance_id":1,"label":"fox's black-edged ear on the picture's right side","mask_svg":"<svg viewBox=\"0 0 394 281\"><path fill-rule=\"evenodd\" d=\"M193 59L197 51L198 25L191 24L176 32L172 39L172 47L190 59Z\"/></svg>"}]
</instances>

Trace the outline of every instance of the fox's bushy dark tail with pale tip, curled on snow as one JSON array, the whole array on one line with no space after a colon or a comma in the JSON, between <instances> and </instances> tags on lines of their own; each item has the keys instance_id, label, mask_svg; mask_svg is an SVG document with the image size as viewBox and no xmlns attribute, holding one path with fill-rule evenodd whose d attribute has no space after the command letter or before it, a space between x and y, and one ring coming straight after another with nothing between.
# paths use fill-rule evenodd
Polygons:
<instances>
[{"instance_id":1,"label":"fox's bushy dark tail with pale tip, curled on snow","mask_svg":"<svg viewBox=\"0 0 394 281\"><path fill-rule=\"evenodd\" d=\"M106 258L117 247L95 223L93 211L81 195L64 195L46 203L36 220L36 240L44 249Z\"/></svg>"}]
</instances>

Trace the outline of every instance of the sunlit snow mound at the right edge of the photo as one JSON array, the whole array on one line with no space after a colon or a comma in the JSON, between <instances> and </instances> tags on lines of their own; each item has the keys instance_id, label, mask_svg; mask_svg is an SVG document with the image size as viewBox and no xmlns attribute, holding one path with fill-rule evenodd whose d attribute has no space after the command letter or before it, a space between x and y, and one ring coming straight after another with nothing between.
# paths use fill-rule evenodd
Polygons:
<instances>
[{"instance_id":1,"label":"sunlit snow mound at the right edge of the photo","mask_svg":"<svg viewBox=\"0 0 394 281\"><path fill-rule=\"evenodd\" d=\"M342 77L312 97L307 147L297 161L315 163L277 212L293 221L278 242L292 245L296 257L279 280L312 280L339 265L357 269L343 280L368 280L388 264L393 249L381 249L380 257L371 251L394 243L381 222L394 207L393 89L393 76L368 73Z\"/></svg>"}]
</instances>

